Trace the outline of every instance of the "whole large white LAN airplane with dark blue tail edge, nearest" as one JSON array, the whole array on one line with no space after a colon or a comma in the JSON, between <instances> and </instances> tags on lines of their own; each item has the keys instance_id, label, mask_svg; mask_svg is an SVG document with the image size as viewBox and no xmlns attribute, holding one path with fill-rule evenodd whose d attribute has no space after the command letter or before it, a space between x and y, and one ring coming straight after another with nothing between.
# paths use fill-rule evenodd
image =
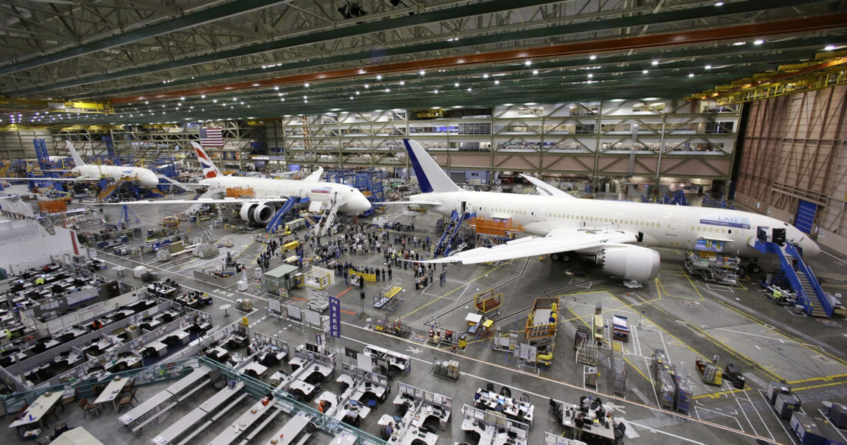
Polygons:
<instances>
[{"instance_id":1,"label":"whole large white LAN airplane with dark blue tail edge, nearest","mask_svg":"<svg viewBox=\"0 0 847 445\"><path fill-rule=\"evenodd\" d=\"M659 272L659 252L650 247L695 248L698 240L721 243L723 251L758 258L748 242L758 227L784 228L786 239L800 244L804 255L818 245L787 223L750 212L695 206L667 206L628 201L583 200L540 179L529 178L541 195L517 195L460 189L415 140L403 140L423 193L396 204L424 206L441 215L475 212L476 217L519 223L534 235L495 247L458 252L425 262L474 264L536 255L569 259L572 252L594 257L602 270L625 280L645 282ZM395 204L395 203L392 203ZM640 244L640 245L636 245Z\"/></svg>"}]
</instances>

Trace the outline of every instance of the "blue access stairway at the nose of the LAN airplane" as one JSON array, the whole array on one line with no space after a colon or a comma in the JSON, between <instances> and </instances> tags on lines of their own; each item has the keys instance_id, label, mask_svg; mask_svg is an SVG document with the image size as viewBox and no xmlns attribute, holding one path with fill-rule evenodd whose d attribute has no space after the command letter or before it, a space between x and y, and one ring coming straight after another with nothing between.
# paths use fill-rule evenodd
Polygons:
<instances>
[{"instance_id":1,"label":"blue access stairway at the nose of the LAN airplane","mask_svg":"<svg viewBox=\"0 0 847 445\"><path fill-rule=\"evenodd\" d=\"M790 243L779 245L770 240L750 239L750 246L762 253L778 255L782 270L774 281L785 278L797 294L797 304L810 316L833 316L833 305L811 268L803 262L800 250Z\"/></svg>"}]
</instances>

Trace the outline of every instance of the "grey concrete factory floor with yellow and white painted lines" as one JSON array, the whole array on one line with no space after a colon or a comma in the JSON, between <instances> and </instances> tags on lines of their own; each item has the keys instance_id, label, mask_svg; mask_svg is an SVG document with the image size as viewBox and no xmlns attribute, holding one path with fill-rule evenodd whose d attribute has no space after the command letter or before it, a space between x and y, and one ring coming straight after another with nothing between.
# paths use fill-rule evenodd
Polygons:
<instances>
[{"instance_id":1,"label":"grey concrete factory floor with yellow and white painted lines","mask_svg":"<svg viewBox=\"0 0 847 445\"><path fill-rule=\"evenodd\" d=\"M141 218L141 226L157 226L163 216L173 212L185 211L185 206L136 206L133 209ZM110 207L112 220L116 221L119 207ZM415 228L421 236L435 237L437 215L427 214L415 220ZM365 218L363 221L367 221ZM130 227L136 227L135 222ZM202 223L204 226L210 221ZM98 229L97 223L90 229ZM298 344L314 340L314 333L292 325L285 319L268 316L267 295L257 288L247 294L233 288L216 288L208 283L199 282L191 277L191 272L203 266L219 263L225 251L231 251L240 262L255 267L255 258L263 250L263 244L254 239L254 234L264 234L263 229L253 232L233 231L231 226L216 225L213 234L216 239L231 242L231 248L224 248L221 254L211 260L191 259L180 264L158 263L150 257L118 256L107 252L98 252L106 261L108 269L102 275L114 277L114 266L134 267L141 263L152 266L161 277L170 277L187 288L196 288L213 295L214 305L208 306L216 327L224 326L246 316L253 332L263 332L283 339L293 348ZM85 231L86 227L80 227ZM302 229L301 233L305 233ZM201 236L202 228L197 223L183 223L181 233L191 231L190 236ZM326 239L327 237L324 237ZM130 240L130 244L133 241ZM440 434L440 443L461 442L474 439L465 437L461 430L462 404L473 405L473 394L478 387L493 382L496 388L510 387L517 397L526 393L535 405L535 417L529 434L529 443L543 443L544 432L562 433L561 419L553 418L548 411L548 398L579 403L582 395L600 395L604 401L611 401L614 415L626 422L627 443L756 443L766 442L798 443L798 439L789 432L786 420L779 420L764 397L765 388L770 381L788 382L802 401L801 409L814 417L822 419L818 412L823 409L824 401L847 403L847 331L843 319L817 319L798 316L782 306L772 303L759 288L759 277L744 277L738 286L730 287L714 283L703 283L697 277L684 272L682 252L661 250L662 269L655 281L645 283L643 288L629 289L622 283L602 275L595 266L582 261L551 261L545 258L529 258L510 261L497 265L474 265L447 267L447 279L444 285L435 283L422 290L415 290L412 270L393 267L393 277L400 278L403 291L401 304L391 313L375 309L372 297L379 292L379 286L385 284L368 283L365 287L367 299L359 299L358 289L351 288L341 277L334 277L335 283L325 289L327 294L339 296L342 309L342 338L329 339L334 348L362 349L364 345L376 344L412 356L412 370L406 376L397 376L395 380L422 387L435 393L453 398L451 423ZM358 266L384 267L382 255L346 255L342 261L350 261ZM275 262L275 261L274 261ZM819 274L822 287L832 293L844 292L847 288L843 281L847 265L833 260L828 255L820 255L808 261ZM127 274L122 281L135 286L143 284ZM503 351L492 349L490 337L481 338L470 335L467 348L451 353L426 343L427 332L433 324L442 329L466 332L465 317L473 312L473 294L488 288L503 294L503 305L496 315L492 330L501 332L521 332L533 305L538 297L558 297L560 299L559 328L556 332L556 349L552 365L538 369L519 366L516 358ZM291 291L291 301L304 306L309 289ZM235 299L250 297L253 310L243 314L233 309L235 315L224 318L219 306L232 303ZM363 306L364 303L364 306ZM591 316L595 305L601 303L602 315L611 326L612 315L627 316L632 327L628 343L610 341L607 338L599 352L600 378L597 390L584 387L585 366L575 362L573 336L577 327L591 325ZM363 312L364 307L364 313ZM411 338L397 338L371 327L380 319L400 320L412 329ZM608 332L608 330L606 330ZM617 344L616 344L617 343ZM620 348L618 349L618 346ZM657 409L658 399L650 382L649 362L654 349L663 349L677 369L685 369L693 382L694 400L689 415L673 414ZM612 397L612 354L623 354L628 364L628 382L625 398ZM703 383L695 367L695 360L706 357L711 360L714 354L720 355L717 365L733 362L747 377L744 390L733 389L724 381L721 387ZM343 354L342 354L343 355ZM435 376L431 369L435 360L457 360L462 375L457 382ZM285 365L284 365L285 366ZM325 389L334 389L335 382L325 385ZM139 398L158 392L157 387L143 387ZM396 391L394 385L393 391ZM208 394L195 396L190 410ZM393 398L393 394L390 396ZM389 400L390 400L389 398ZM379 436L377 420L381 414L394 414L389 401L381 404L375 412L368 415L361 428ZM158 431L163 430L180 412L170 415L161 425L154 427L142 437L134 437L117 420L111 408L99 417L81 420L81 410L69 409L62 421L70 426L83 425L88 431L108 443L149 443ZM222 420L221 427L232 419ZM4 418L6 423L11 417ZM844 431L835 432L832 426L824 427L832 437L845 436ZM273 431L274 428L268 428ZM200 437L208 440L213 437L214 429ZM8 435L8 443L22 442ZM267 434L265 434L267 436ZM269 437L258 437L264 442ZM327 442L323 439L318 442Z\"/></svg>"}]
</instances>

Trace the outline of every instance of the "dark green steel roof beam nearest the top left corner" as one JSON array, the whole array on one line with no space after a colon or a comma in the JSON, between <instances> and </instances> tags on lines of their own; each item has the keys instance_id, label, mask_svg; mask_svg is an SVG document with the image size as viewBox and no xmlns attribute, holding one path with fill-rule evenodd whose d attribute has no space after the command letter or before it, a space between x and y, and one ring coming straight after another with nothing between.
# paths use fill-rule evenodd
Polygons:
<instances>
[{"instance_id":1,"label":"dark green steel roof beam nearest the top left corner","mask_svg":"<svg viewBox=\"0 0 847 445\"><path fill-rule=\"evenodd\" d=\"M230 3L224 3L212 8L203 9L196 13L186 14L177 19L169 19L155 25L148 25L137 30L131 30L119 34L118 36L107 37L98 41L81 44L77 47L72 47L58 52L53 52L40 58L31 58L19 63L13 63L4 67L0 67L0 75L11 74L24 69L31 69L56 63L69 58L76 58L91 52L102 51L113 47L119 47L128 43L141 41L150 37L162 36L175 30L184 30L193 26L207 24L220 19L234 17L236 15L245 14L257 9L268 8L277 3L285 3L290 0L237 0Z\"/></svg>"}]
</instances>

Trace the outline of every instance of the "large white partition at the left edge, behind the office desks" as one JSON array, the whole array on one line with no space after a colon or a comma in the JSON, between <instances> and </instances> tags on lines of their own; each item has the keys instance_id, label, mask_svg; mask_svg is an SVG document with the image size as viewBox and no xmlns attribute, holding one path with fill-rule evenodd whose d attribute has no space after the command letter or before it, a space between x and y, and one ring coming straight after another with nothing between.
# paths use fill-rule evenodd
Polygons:
<instances>
[{"instance_id":1,"label":"large white partition at the left edge, behind the office desks","mask_svg":"<svg viewBox=\"0 0 847 445\"><path fill-rule=\"evenodd\" d=\"M51 255L75 255L76 233L55 228L51 235L31 219L0 220L0 266L11 273L49 262Z\"/></svg>"}]
</instances>

